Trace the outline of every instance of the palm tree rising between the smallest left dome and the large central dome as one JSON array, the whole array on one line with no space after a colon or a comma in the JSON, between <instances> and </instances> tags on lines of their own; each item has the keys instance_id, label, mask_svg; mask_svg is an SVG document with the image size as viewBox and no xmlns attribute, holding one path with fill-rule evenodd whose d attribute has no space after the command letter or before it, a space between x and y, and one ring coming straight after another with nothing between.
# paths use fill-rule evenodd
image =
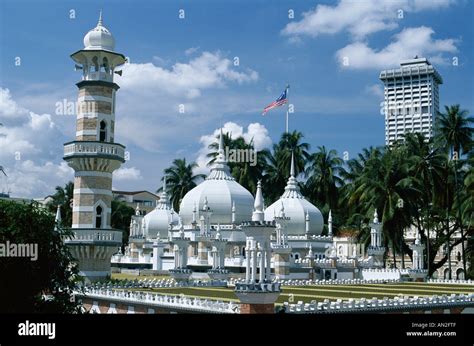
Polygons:
<instances>
[{"instance_id":1,"label":"palm tree rising between the smallest left dome and the large central dome","mask_svg":"<svg viewBox=\"0 0 474 346\"><path fill-rule=\"evenodd\" d=\"M194 174L193 170L197 167L195 162L187 163L186 159L176 159L171 167L164 170L166 176L167 192L170 195L171 203L176 212L179 212L181 199L191 189L196 187L196 182L204 179L204 174ZM161 191L160 187L157 192Z\"/></svg>"}]
</instances>

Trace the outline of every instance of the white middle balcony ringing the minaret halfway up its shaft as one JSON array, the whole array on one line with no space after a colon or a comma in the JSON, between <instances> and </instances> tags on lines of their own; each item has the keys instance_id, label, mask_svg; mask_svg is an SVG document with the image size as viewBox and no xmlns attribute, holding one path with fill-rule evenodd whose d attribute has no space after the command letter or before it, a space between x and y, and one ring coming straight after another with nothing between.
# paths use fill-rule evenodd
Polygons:
<instances>
[{"instance_id":1,"label":"white middle balcony ringing the minaret halfway up its shaft","mask_svg":"<svg viewBox=\"0 0 474 346\"><path fill-rule=\"evenodd\" d=\"M73 141L64 144L64 159L100 157L125 162L125 147L118 143Z\"/></svg>"}]
</instances>

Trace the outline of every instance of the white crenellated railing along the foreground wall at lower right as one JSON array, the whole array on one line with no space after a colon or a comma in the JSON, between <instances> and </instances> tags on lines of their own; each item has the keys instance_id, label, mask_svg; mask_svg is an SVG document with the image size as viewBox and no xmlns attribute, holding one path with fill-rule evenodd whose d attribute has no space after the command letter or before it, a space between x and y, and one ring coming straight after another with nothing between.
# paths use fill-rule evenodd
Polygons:
<instances>
[{"instance_id":1,"label":"white crenellated railing along the foreground wall at lower right","mask_svg":"<svg viewBox=\"0 0 474 346\"><path fill-rule=\"evenodd\" d=\"M407 309L440 309L459 306L474 306L474 294L451 294L448 295L434 295L429 297L395 297L392 299L349 299L342 301L303 303L297 304L283 303L283 308L287 313L350 313L350 312L371 312L371 311L389 311Z\"/></svg>"}]
</instances>

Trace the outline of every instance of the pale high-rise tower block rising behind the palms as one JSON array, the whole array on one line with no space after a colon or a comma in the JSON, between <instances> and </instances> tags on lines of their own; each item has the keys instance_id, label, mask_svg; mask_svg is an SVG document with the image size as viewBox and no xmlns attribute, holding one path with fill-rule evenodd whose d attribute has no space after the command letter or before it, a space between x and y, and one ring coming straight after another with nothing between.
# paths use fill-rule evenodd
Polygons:
<instances>
[{"instance_id":1,"label":"pale high-rise tower block rising behind the palms","mask_svg":"<svg viewBox=\"0 0 474 346\"><path fill-rule=\"evenodd\" d=\"M443 79L426 58L403 60L400 68L380 73L384 83L385 144L403 139L406 132L433 136Z\"/></svg>"}]
</instances>

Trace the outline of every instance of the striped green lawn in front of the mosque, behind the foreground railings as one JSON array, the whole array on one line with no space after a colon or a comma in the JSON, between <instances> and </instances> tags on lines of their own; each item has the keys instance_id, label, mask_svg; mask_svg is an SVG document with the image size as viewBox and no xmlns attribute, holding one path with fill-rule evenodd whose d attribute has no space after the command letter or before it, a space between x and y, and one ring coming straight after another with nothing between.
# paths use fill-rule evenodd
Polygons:
<instances>
[{"instance_id":1,"label":"striped green lawn in front of the mosque, behind the foreground railings","mask_svg":"<svg viewBox=\"0 0 474 346\"><path fill-rule=\"evenodd\" d=\"M217 299L226 301L238 301L233 289L223 287L186 287L186 288L153 288L138 289L140 291L151 291L154 293L168 295L185 295L203 299ZM348 300L350 298L379 299L396 296L431 296L442 294L466 294L474 293L471 285L438 285L429 283L395 283L395 284L366 284L366 285L321 285L321 286L283 286L282 294L277 304L289 301L297 303L303 301Z\"/></svg>"}]
</instances>

